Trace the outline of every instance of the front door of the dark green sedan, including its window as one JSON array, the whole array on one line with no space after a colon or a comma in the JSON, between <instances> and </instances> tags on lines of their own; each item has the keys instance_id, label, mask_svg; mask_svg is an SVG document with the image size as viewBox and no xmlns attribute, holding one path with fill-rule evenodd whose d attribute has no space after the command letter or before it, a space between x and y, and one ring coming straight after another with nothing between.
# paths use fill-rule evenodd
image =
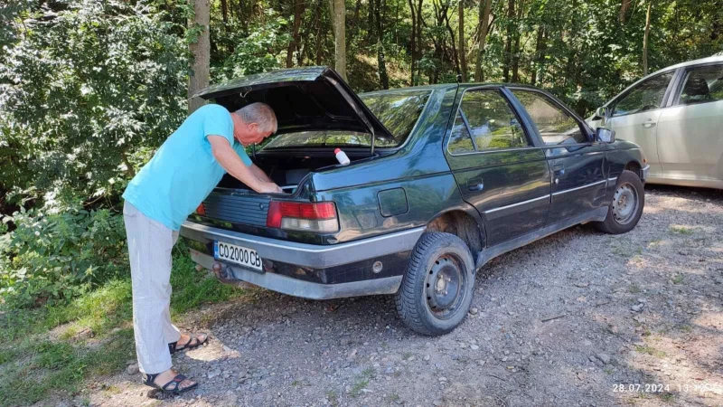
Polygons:
<instances>
[{"instance_id":1,"label":"front door of the dark green sedan, including its window","mask_svg":"<svg viewBox=\"0 0 723 407\"><path fill-rule=\"evenodd\" d=\"M543 143L552 174L548 224L599 208L606 195L605 144L595 143L582 119L540 90L511 88Z\"/></svg>"}]
</instances>

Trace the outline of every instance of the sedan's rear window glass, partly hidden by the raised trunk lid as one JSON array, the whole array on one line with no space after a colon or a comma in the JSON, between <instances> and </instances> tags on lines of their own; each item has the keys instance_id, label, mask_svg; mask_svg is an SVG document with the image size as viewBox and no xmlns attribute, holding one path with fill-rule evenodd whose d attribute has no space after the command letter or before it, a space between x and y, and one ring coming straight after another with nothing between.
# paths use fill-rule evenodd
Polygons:
<instances>
[{"instance_id":1,"label":"sedan's rear window glass, partly hidden by the raised trunk lid","mask_svg":"<svg viewBox=\"0 0 723 407\"><path fill-rule=\"evenodd\" d=\"M429 99L429 90L399 90L359 95L394 138L377 138L375 147L404 144ZM371 135L353 131L310 130L272 137L264 148L284 147L369 147Z\"/></svg>"}]
</instances>

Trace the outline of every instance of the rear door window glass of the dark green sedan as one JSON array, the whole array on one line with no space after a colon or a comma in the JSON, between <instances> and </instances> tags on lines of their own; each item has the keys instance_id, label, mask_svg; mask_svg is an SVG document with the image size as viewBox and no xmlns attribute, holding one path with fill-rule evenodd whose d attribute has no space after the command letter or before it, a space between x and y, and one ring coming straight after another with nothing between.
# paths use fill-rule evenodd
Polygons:
<instances>
[{"instance_id":1,"label":"rear door window glass of the dark green sedan","mask_svg":"<svg viewBox=\"0 0 723 407\"><path fill-rule=\"evenodd\" d=\"M449 139L450 153L528 146L520 120L499 90L465 91Z\"/></svg>"}]
</instances>

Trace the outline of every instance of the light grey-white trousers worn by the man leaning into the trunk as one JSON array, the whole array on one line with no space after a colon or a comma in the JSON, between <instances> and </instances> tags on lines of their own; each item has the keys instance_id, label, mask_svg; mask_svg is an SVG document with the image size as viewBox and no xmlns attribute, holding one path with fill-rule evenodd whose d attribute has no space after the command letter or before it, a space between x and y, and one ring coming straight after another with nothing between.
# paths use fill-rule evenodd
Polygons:
<instances>
[{"instance_id":1,"label":"light grey-white trousers worn by the man leaning into the trunk","mask_svg":"<svg viewBox=\"0 0 723 407\"><path fill-rule=\"evenodd\" d=\"M133 204L123 205L133 282L133 331L138 368L158 374L171 368L168 344L181 333L171 324L171 250L178 232L155 222Z\"/></svg>"}]
</instances>

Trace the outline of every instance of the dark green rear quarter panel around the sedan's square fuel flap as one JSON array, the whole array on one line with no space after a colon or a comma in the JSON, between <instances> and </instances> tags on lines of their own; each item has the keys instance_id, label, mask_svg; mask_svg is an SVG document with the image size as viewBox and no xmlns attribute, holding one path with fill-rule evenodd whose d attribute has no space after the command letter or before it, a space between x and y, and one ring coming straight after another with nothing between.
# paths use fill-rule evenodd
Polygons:
<instances>
[{"instance_id":1,"label":"dark green rear quarter panel around the sedan's square fuel flap","mask_svg":"<svg viewBox=\"0 0 723 407\"><path fill-rule=\"evenodd\" d=\"M459 194L442 150L456 90L456 85L433 90L417 128L396 153L312 175L315 198L333 201L339 213L334 242L425 226L449 210L476 213ZM379 194L395 188L404 190L408 211L383 216Z\"/></svg>"}]
</instances>

